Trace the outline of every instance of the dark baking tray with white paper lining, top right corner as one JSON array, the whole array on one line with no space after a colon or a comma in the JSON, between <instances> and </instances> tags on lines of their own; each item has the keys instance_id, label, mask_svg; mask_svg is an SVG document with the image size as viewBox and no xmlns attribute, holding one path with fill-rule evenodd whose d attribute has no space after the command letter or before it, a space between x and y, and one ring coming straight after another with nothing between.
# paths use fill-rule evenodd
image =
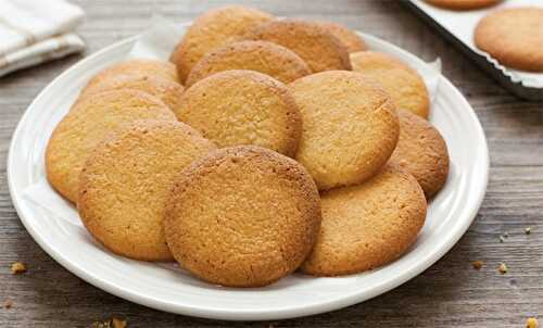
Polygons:
<instances>
[{"instance_id":1,"label":"dark baking tray with white paper lining, top right corner","mask_svg":"<svg viewBox=\"0 0 543 328\"><path fill-rule=\"evenodd\" d=\"M543 8L543 1L507 0L494 7L470 11L440 9L422 0L401 0L401 2L428 22L505 89L522 99L543 100L543 73L529 73L505 67L473 43L473 31L478 22L491 11L526 5Z\"/></svg>"}]
</instances>

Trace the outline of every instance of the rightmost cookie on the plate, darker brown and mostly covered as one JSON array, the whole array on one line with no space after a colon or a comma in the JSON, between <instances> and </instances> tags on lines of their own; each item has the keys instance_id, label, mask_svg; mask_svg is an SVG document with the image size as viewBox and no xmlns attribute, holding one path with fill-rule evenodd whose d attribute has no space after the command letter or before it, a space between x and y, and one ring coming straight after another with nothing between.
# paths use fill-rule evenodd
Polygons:
<instances>
[{"instance_id":1,"label":"rightmost cookie on the plate, darker brown and mostly covered","mask_svg":"<svg viewBox=\"0 0 543 328\"><path fill-rule=\"evenodd\" d=\"M399 110L400 139L389 163L411 173L430 199L445 185L449 152L445 140L428 121Z\"/></svg>"}]
</instances>

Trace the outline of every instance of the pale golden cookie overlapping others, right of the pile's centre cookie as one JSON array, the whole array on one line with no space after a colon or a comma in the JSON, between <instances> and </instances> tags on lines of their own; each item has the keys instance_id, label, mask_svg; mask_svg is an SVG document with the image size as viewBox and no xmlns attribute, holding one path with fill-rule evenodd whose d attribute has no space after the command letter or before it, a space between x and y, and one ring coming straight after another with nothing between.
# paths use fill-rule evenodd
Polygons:
<instances>
[{"instance_id":1,"label":"pale golden cookie overlapping others, right of the pile's centre cookie","mask_svg":"<svg viewBox=\"0 0 543 328\"><path fill-rule=\"evenodd\" d=\"M303 122L295 159L320 190L362 182L387 163L400 127L383 90L348 71L310 75L290 87Z\"/></svg>"}]
</instances>

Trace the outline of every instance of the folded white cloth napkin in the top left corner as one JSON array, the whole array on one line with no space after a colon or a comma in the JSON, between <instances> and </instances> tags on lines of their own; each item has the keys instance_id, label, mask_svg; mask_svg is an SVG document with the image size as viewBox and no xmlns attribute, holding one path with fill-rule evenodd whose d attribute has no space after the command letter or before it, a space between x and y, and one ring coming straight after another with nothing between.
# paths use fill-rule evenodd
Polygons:
<instances>
[{"instance_id":1,"label":"folded white cloth napkin in the top left corner","mask_svg":"<svg viewBox=\"0 0 543 328\"><path fill-rule=\"evenodd\" d=\"M0 76L85 49L84 17L65 0L0 0Z\"/></svg>"}]
</instances>

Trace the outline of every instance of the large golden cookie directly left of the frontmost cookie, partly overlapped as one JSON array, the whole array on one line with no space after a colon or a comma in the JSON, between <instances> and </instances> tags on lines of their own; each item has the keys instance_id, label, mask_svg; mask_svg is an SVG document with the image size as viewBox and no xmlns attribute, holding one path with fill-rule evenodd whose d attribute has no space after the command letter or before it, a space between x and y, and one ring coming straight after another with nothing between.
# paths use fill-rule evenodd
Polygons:
<instances>
[{"instance_id":1,"label":"large golden cookie directly left of the frontmost cookie, partly overlapped","mask_svg":"<svg viewBox=\"0 0 543 328\"><path fill-rule=\"evenodd\" d=\"M111 251L136 260L172 261L164 236L174 178L215 146L180 122L137 121L89 155L77 209L89 232Z\"/></svg>"}]
</instances>

